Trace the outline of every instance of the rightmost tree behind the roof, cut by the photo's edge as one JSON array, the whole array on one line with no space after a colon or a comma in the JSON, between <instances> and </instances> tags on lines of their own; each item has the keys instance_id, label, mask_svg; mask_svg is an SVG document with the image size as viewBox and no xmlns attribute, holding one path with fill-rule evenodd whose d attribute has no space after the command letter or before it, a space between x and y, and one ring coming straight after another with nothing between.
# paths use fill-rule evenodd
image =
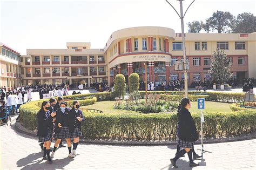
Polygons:
<instances>
[{"instance_id":1,"label":"rightmost tree behind the roof, cut by the photo's edge","mask_svg":"<svg viewBox=\"0 0 256 170\"><path fill-rule=\"evenodd\" d=\"M240 13L231 26L233 33L256 32L256 16L252 13Z\"/></svg>"}]
</instances>

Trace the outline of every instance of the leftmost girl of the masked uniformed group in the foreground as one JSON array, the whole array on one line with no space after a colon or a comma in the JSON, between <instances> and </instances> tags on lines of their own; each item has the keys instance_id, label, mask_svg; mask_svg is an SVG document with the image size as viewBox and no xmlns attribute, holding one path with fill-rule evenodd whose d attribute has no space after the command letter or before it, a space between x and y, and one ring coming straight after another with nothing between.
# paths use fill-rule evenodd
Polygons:
<instances>
[{"instance_id":1,"label":"leftmost girl of the masked uniformed group in the foreground","mask_svg":"<svg viewBox=\"0 0 256 170\"><path fill-rule=\"evenodd\" d=\"M38 131L37 136L39 137L38 142L44 142L44 155L43 159L48 160L48 164L52 164L50 157L50 146L52 140L52 129L53 123L52 118L55 117L56 113L50 113L49 110L46 110L46 107L49 107L50 104L48 101L43 101L41 109L37 113L38 121ZM46 158L47 154L47 158Z\"/></svg>"}]
</instances>

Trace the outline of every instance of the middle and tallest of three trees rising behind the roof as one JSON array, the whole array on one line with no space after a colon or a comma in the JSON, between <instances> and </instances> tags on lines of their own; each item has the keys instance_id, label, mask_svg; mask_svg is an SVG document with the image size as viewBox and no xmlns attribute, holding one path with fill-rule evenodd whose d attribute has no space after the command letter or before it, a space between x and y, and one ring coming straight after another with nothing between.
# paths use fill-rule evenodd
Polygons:
<instances>
[{"instance_id":1,"label":"middle and tallest of three trees rising behind the roof","mask_svg":"<svg viewBox=\"0 0 256 170\"><path fill-rule=\"evenodd\" d=\"M217 11L212 17L206 19L204 30L218 30L218 33L226 33L230 31L231 25L234 22L234 16L230 12Z\"/></svg>"}]
</instances>

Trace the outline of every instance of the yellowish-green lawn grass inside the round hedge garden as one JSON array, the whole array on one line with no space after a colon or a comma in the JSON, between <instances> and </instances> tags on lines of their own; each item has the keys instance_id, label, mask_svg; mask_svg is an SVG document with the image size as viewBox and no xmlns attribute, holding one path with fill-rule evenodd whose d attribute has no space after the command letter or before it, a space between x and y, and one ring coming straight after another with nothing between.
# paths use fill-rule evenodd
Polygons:
<instances>
[{"instance_id":1,"label":"yellowish-green lawn grass inside the round hedge garden","mask_svg":"<svg viewBox=\"0 0 256 170\"><path fill-rule=\"evenodd\" d=\"M101 110L104 113L138 113L136 111L127 111L127 110L117 110L113 109L115 101L97 101L93 105L82 106L82 108L94 108L97 110ZM125 101L123 101L125 104ZM214 101L205 101L205 110L204 112L230 112L230 105L228 103L219 103ZM200 112L197 109L197 101L192 101L192 107L190 109L191 113Z\"/></svg>"}]
</instances>

